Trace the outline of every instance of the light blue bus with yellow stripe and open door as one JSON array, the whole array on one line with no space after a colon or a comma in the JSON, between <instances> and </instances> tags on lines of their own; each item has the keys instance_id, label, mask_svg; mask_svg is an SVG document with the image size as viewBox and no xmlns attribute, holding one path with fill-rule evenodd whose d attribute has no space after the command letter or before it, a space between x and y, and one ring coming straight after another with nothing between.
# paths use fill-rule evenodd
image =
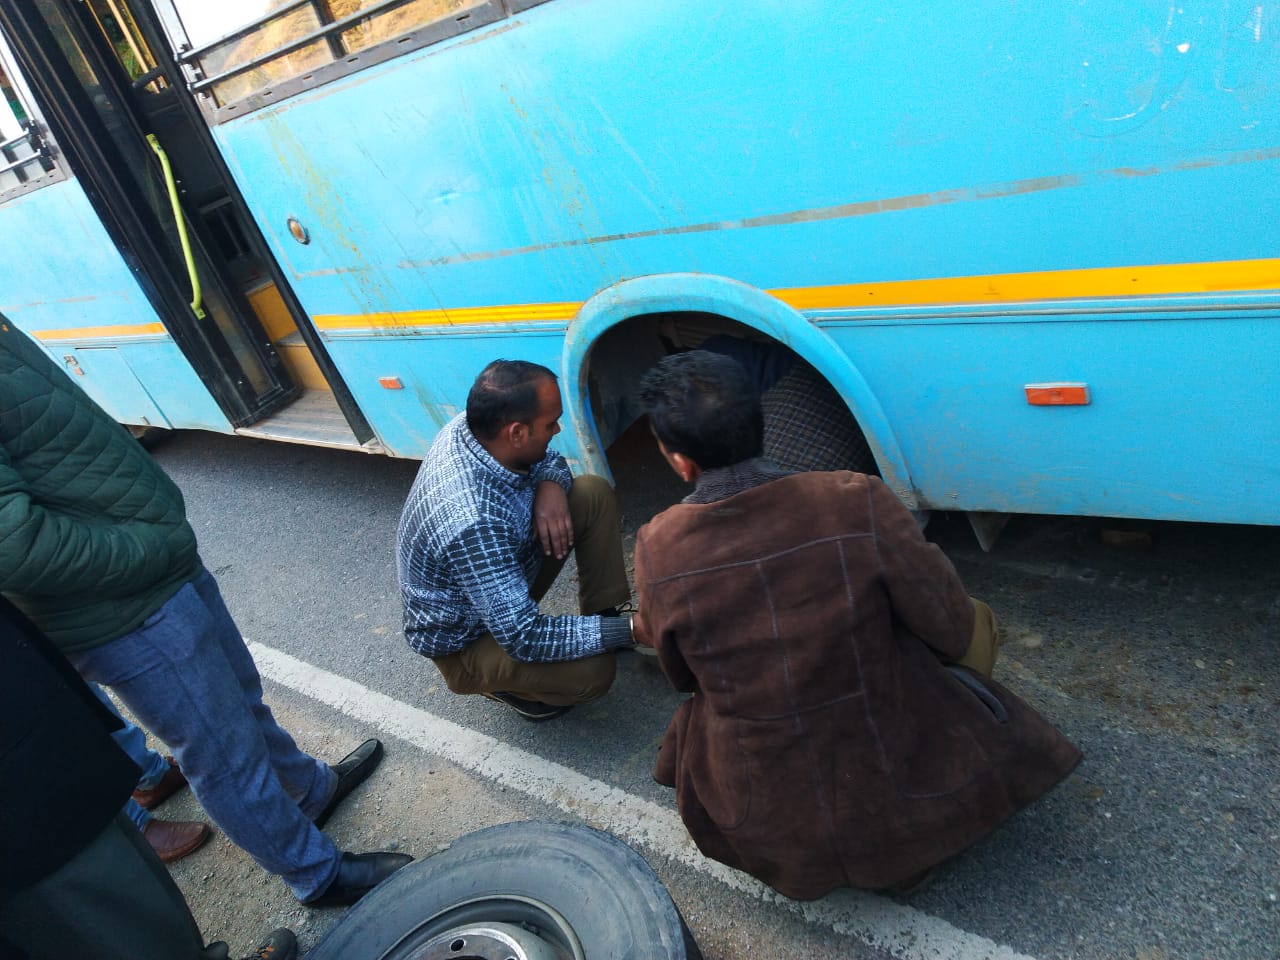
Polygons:
<instances>
[{"instance_id":1,"label":"light blue bus with yellow stripe and open door","mask_svg":"<svg viewBox=\"0 0 1280 960\"><path fill-rule=\"evenodd\" d=\"M1280 522L1274 0L0 0L0 311L124 424L419 457L518 356L608 475L718 338L915 508Z\"/></svg>"}]
</instances>

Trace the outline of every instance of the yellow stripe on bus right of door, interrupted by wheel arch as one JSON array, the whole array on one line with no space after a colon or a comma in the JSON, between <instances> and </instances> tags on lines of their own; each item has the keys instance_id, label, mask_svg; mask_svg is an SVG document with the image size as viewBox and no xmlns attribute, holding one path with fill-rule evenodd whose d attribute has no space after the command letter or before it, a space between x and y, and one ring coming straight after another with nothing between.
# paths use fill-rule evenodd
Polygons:
<instances>
[{"instance_id":1,"label":"yellow stripe on bus right of door, interrupted by wheel arch","mask_svg":"<svg viewBox=\"0 0 1280 960\"><path fill-rule=\"evenodd\" d=\"M832 287L783 287L768 292L796 310L846 310L868 306L1012 303L1037 300L1270 289L1280 289L1280 259L941 276ZM567 323L581 306L581 303L509 303L451 310L406 310L393 314L325 314L315 317L315 325L321 330L376 330L548 320Z\"/></svg>"}]
</instances>

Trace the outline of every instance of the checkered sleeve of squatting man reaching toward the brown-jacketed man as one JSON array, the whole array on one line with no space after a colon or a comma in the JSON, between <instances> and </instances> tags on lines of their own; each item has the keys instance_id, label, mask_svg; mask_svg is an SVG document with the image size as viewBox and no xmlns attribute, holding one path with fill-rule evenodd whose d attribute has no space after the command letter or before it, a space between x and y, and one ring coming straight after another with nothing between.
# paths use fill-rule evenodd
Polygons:
<instances>
[{"instance_id":1,"label":"checkered sleeve of squatting man reaching toward the brown-jacketed man","mask_svg":"<svg viewBox=\"0 0 1280 960\"><path fill-rule=\"evenodd\" d=\"M577 660L630 645L626 621L605 630L602 617L540 614L516 562L518 545L499 525L481 521L447 548L449 570L468 603L513 660Z\"/></svg>"}]
</instances>

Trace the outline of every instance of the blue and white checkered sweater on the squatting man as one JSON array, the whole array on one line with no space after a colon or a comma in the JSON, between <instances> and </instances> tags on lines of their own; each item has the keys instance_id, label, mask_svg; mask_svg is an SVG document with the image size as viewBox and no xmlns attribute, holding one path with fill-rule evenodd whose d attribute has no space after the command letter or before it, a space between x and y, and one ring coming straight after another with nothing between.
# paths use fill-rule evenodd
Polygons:
<instances>
[{"instance_id":1,"label":"blue and white checkered sweater on the squatting man","mask_svg":"<svg viewBox=\"0 0 1280 960\"><path fill-rule=\"evenodd\" d=\"M534 530L534 492L573 477L554 451L527 474L495 461L460 413L422 461L401 513L397 571L404 639L424 657L457 653L485 631L526 663L604 653L599 617L548 617L529 586L543 552Z\"/></svg>"}]
</instances>

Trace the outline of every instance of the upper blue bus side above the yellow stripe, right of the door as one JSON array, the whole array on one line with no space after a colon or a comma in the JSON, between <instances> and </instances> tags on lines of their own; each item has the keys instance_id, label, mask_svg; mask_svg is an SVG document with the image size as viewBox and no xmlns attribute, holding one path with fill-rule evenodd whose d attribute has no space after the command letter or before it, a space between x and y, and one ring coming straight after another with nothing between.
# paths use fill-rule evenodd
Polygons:
<instances>
[{"instance_id":1,"label":"upper blue bus side above the yellow stripe, right of the door","mask_svg":"<svg viewBox=\"0 0 1280 960\"><path fill-rule=\"evenodd\" d=\"M1274 253L1271 32L1224 90L1229 12L1043 6L558 0L216 133L314 315Z\"/></svg>"}]
</instances>

